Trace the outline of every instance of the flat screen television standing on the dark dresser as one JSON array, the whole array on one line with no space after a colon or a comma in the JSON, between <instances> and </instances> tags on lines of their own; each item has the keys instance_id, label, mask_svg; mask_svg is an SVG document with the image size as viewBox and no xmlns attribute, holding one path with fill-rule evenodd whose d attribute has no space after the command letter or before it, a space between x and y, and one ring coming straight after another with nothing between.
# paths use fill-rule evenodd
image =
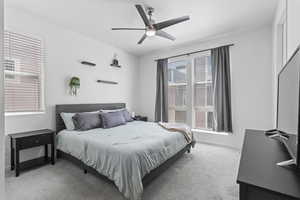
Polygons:
<instances>
[{"instance_id":1,"label":"flat screen television standing on the dark dresser","mask_svg":"<svg viewBox=\"0 0 300 200\"><path fill-rule=\"evenodd\" d=\"M300 168L300 46L278 74L277 130L290 135L284 140L291 160Z\"/></svg>"}]
</instances>

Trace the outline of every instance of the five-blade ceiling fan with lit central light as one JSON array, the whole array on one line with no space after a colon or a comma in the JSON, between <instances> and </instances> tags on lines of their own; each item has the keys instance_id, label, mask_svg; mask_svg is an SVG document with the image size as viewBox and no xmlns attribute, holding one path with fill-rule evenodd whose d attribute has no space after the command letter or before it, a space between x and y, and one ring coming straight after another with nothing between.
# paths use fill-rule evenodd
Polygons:
<instances>
[{"instance_id":1,"label":"five-blade ceiling fan with lit central light","mask_svg":"<svg viewBox=\"0 0 300 200\"><path fill-rule=\"evenodd\" d=\"M155 21L152 19L152 14L154 12L154 8L152 7L146 7L146 11L149 15L149 17L147 17L146 12L144 11L142 5L135 5L137 11L139 12L140 16L143 19L143 22L145 24L145 28L112 28L112 30L141 30L141 31L145 31L144 35L142 36L142 38L138 41L138 44L142 44L143 41L147 38L147 37L152 37L152 36L160 36L169 40L174 41L176 38L172 35L170 35L169 33L166 33L165 31L162 31L162 29L187 21L190 19L189 16L183 16L183 17L179 17L179 18L175 18L175 19L170 19L167 21L163 21L160 23L155 23Z\"/></svg>"}]
</instances>

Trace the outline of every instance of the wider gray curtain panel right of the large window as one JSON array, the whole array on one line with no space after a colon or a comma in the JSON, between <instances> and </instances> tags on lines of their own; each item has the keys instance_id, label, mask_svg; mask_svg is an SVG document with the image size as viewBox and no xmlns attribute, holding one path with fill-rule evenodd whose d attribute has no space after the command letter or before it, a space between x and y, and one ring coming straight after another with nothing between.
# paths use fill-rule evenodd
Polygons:
<instances>
[{"instance_id":1,"label":"wider gray curtain panel right of the large window","mask_svg":"<svg viewBox=\"0 0 300 200\"><path fill-rule=\"evenodd\" d=\"M214 130L232 133L229 46L212 49Z\"/></svg>"}]
</instances>

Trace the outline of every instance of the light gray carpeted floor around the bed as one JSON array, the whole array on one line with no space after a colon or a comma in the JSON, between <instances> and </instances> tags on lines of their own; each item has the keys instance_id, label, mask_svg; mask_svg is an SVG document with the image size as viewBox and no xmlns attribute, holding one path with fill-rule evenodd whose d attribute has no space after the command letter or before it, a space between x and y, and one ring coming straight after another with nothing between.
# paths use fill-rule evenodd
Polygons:
<instances>
[{"instance_id":1,"label":"light gray carpeted floor around the bed","mask_svg":"<svg viewBox=\"0 0 300 200\"><path fill-rule=\"evenodd\" d=\"M197 144L146 188L143 200L237 200L239 153ZM84 174L65 160L21 173L6 173L7 200L124 200L113 184Z\"/></svg>"}]
</instances>

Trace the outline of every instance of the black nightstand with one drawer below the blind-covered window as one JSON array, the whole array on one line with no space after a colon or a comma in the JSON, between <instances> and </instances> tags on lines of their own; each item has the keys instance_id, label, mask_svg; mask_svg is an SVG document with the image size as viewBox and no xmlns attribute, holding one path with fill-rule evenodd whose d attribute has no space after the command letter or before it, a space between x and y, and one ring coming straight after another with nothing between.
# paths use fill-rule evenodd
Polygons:
<instances>
[{"instance_id":1,"label":"black nightstand with one drawer below the blind-covered window","mask_svg":"<svg viewBox=\"0 0 300 200\"><path fill-rule=\"evenodd\" d=\"M48 144L51 145L51 163L55 164L55 131L49 129L29 131L23 133L9 134L11 151L11 170L16 171L16 177L20 170L36 165L49 163ZM20 163L20 150L29 149L37 146L45 147L45 155L41 158L28 160Z\"/></svg>"}]
</instances>

